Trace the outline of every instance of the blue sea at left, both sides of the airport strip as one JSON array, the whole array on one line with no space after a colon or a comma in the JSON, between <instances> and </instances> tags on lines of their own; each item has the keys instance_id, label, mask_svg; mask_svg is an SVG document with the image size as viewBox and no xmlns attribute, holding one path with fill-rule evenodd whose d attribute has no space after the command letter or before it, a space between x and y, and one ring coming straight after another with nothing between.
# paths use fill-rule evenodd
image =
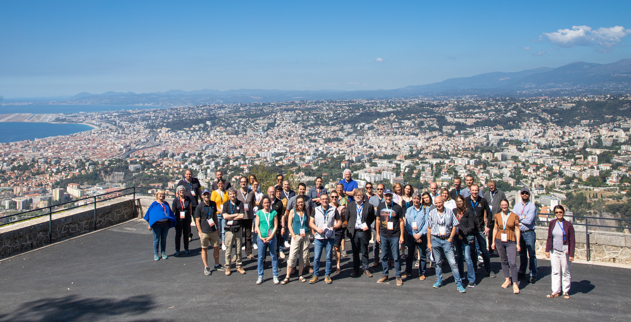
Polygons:
<instances>
[{"instance_id":1,"label":"blue sea at left, both sides of the airport strip","mask_svg":"<svg viewBox=\"0 0 631 322\"><path fill-rule=\"evenodd\" d=\"M138 105L63 105L63 104L32 104L32 105L0 105L0 114L10 113L79 113L79 112L110 112L119 110L143 110L146 108L169 108L171 106L138 106ZM92 127L83 124L52 124L35 122L0 122L0 142L16 142L33 140L57 135L68 135L91 130Z\"/></svg>"}]
</instances>

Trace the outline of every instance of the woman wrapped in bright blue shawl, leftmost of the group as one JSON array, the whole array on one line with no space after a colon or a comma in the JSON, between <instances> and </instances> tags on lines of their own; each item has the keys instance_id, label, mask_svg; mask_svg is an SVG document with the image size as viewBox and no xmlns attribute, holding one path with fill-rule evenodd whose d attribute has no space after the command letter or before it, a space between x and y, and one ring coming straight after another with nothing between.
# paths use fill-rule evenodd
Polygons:
<instances>
[{"instance_id":1,"label":"woman wrapped in bright blue shawl, leftmost of the group","mask_svg":"<svg viewBox=\"0 0 631 322\"><path fill-rule=\"evenodd\" d=\"M158 243L162 248L162 258L165 260L168 258L165 254L165 248L167 248L167 233L168 229L175 227L175 214L168 205L168 202L164 200L167 194L164 190L158 190L156 192L156 201L154 201L144 214L144 220L149 223L149 230L153 231L153 259L160 260L160 253L158 253Z\"/></svg>"}]
</instances>

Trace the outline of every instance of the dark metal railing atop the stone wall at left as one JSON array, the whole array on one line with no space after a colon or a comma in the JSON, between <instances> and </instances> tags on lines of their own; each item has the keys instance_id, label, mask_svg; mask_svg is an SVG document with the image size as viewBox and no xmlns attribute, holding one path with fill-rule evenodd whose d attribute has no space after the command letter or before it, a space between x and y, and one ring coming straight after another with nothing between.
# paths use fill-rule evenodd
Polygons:
<instances>
[{"instance_id":1,"label":"dark metal railing atop the stone wall at left","mask_svg":"<svg viewBox=\"0 0 631 322\"><path fill-rule=\"evenodd\" d=\"M112 200L115 198L120 198L120 197L125 197L127 195L133 195L133 212L134 214L136 213L136 193L139 194L146 194L145 192L136 192L136 188L138 189L156 189L153 187L129 187L129 188L124 188L121 190L117 190L114 192L107 192L107 193L103 193L101 195L95 195L95 196L91 196L91 197L85 197L85 198L80 198L77 200L72 200L72 201L68 201L68 202L62 202L61 204L56 204L56 205L49 205L48 207L43 207L43 208L38 208L38 209L33 209L33 210L27 210L27 211L23 211L23 212L18 212L17 214L11 214L11 215L7 215L7 216L1 216L0 217L0 221L4 218L11 218L11 217L16 217L16 216L23 216L24 214L28 214L29 212L38 212L38 211L48 211L45 214L36 214L35 216L30 216L30 217L26 217L26 218L21 218L15 221L9 221L9 222L0 222L0 227L6 226L6 225L10 225L10 224L15 224L17 222L21 222L21 221L28 221L30 219L35 219L35 218L39 218L39 217L44 217L44 216L48 216L48 220L49 220L49 232L48 232L48 238L49 238L49 243L52 243L52 214L56 214L57 212L64 212L64 211L68 211L71 209L75 209L75 208L80 208L80 207L86 207L88 205L93 204L94 205L94 230L97 230L97 203L98 202L104 202L107 200ZM126 191L130 191L131 192L127 192L124 193ZM169 191L175 191L175 189L168 189L168 188L158 188L158 190L169 190ZM119 194L121 193L121 194ZM110 198L103 198L103 196L105 195L112 195L112 194L116 194L114 197L110 197ZM67 207L67 208L61 208L61 209L56 209L53 210L53 208L55 207L61 207L63 205L68 205L68 204L75 204L76 202L81 202L83 200L90 200L91 202L88 202L86 204L83 205L74 205L73 207Z\"/></svg>"}]
</instances>

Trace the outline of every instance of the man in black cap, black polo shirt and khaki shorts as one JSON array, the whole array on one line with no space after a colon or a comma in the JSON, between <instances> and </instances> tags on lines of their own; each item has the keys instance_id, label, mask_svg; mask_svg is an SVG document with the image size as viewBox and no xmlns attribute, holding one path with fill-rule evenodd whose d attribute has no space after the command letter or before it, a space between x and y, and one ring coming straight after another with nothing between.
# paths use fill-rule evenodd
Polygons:
<instances>
[{"instance_id":1,"label":"man in black cap, black polo shirt and khaki shorts","mask_svg":"<svg viewBox=\"0 0 631 322\"><path fill-rule=\"evenodd\" d=\"M210 200L210 192L204 189L201 193L202 202L195 208L195 224L201 241L201 260L204 262L204 274L211 275L213 270L208 267L208 244L213 245L215 270L225 270L219 263L219 234L217 232L217 204Z\"/></svg>"}]
</instances>

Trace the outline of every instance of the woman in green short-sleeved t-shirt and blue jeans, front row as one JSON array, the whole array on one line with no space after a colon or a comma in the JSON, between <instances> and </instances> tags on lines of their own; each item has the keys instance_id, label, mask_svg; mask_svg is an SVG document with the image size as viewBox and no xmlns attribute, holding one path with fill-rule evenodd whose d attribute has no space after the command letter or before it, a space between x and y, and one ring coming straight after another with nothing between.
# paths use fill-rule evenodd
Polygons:
<instances>
[{"instance_id":1,"label":"woman in green short-sleeved t-shirt and blue jeans, front row","mask_svg":"<svg viewBox=\"0 0 631 322\"><path fill-rule=\"evenodd\" d=\"M272 273L274 275L274 284L280 283L278 280L278 256L276 254L276 227L278 227L278 218L276 210L269 209L271 201L269 197L261 199L263 209L256 212L256 223L254 224L254 233L259 234L256 244L259 247L259 279L256 284L263 282L263 263L265 261L265 253L269 249L269 255L272 258Z\"/></svg>"}]
</instances>

